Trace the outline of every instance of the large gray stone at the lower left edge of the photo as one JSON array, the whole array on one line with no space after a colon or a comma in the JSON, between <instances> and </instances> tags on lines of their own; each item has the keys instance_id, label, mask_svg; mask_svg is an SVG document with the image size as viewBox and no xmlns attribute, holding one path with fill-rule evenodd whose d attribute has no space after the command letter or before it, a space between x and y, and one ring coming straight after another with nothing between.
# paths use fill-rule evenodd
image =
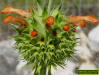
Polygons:
<instances>
[{"instance_id":1,"label":"large gray stone at the lower left edge of the photo","mask_svg":"<svg viewBox=\"0 0 99 75\"><path fill-rule=\"evenodd\" d=\"M2 42L1 42L2 43ZM16 75L18 53L7 43L0 43L0 75Z\"/></svg>"}]
</instances>

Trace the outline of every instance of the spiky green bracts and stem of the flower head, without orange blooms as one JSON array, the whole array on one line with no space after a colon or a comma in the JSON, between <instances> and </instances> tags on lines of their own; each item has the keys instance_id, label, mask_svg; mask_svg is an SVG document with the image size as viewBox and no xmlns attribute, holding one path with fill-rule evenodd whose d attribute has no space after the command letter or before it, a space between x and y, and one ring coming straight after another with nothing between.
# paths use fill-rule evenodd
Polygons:
<instances>
[{"instance_id":1,"label":"spiky green bracts and stem of the flower head, without orange blooms","mask_svg":"<svg viewBox=\"0 0 99 75\"><path fill-rule=\"evenodd\" d=\"M68 31L63 30L63 26L68 23L65 15L61 12L61 5L50 11L45 7L42 9L39 4L38 11L33 9L33 13L27 19L27 28L15 29L21 34L16 34L16 49L21 56L32 64L35 70L34 75L51 75L51 67L57 69L57 66L64 67L65 61L70 59L75 52L77 40L75 32L72 32L74 26L70 26ZM49 29L46 27L45 19L53 16L54 25ZM32 37L30 32L36 30L38 35ZM53 34L56 32L56 35ZM42 41L41 39L44 39ZM46 73L48 70L48 73Z\"/></svg>"}]
</instances>

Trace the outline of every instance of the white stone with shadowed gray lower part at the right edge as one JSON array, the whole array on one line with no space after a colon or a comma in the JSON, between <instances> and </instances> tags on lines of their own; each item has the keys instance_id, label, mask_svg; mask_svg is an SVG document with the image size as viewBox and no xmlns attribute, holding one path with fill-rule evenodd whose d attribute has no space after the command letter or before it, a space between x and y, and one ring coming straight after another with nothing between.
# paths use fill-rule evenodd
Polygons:
<instances>
[{"instance_id":1,"label":"white stone with shadowed gray lower part at the right edge","mask_svg":"<svg viewBox=\"0 0 99 75\"><path fill-rule=\"evenodd\" d=\"M90 31L88 38L90 40L90 48L93 53L93 63L99 69L99 25Z\"/></svg>"}]
</instances>

